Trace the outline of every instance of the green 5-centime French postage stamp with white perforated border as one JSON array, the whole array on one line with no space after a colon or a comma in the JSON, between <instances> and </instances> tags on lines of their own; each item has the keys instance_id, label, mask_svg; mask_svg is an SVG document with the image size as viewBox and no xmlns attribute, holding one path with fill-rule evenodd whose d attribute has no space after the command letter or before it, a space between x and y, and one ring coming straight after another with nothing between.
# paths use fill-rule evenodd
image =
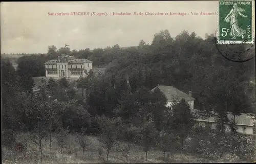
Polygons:
<instances>
[{"instance_id":1,"label":"green 5-centime French postage stamp with white perforated border","mask_svg":"<svg viewBox=\"0 0 256 164\"><path fill-rule=\"evenodd\" d=\"M254 10L254 0L219 1L218 44L253 44Z\"/></svg>"}]
</instances>

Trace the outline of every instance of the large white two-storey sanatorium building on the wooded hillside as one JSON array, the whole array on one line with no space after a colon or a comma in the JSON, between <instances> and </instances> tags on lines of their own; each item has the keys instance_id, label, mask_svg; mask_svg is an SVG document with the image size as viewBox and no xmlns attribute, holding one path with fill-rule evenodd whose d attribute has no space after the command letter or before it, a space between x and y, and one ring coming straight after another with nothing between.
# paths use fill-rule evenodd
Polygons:
<instances>
[{"instance_id":1,"label":"large white two-storey sanatorium building on the wooded hillside","mask_svg":"<svg viewBox=\"0 0 256 164\"><path fill-rule=\"evenodd\" d=\"M73 56L58 56L58 60L49 60L45 63L47 78L78 79L86 76L86 71L93 68L93 62L88 59L75 59Z\"/></svg>"}]
</instances>

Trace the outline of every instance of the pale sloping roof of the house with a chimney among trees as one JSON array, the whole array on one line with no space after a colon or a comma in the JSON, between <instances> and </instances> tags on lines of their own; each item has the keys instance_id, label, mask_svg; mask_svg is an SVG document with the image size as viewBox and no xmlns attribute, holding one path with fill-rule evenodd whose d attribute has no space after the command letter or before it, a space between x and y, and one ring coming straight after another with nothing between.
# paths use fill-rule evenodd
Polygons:
<instances>
[{"instance_id":1,"label":"pale sloping roof of the house with a chimney among trees","mask_svg":"<svg viewBox=\"0 0 256 164\"><path fill-rule=\"evenodd\" d=\"M153 88L152 91L154 91L156 88L159 88L170 102L181 101L181 99L185 99L185 101L195 100L193 97L190 97L174 86L158 85Z\"/></svg>"}]
</instances>

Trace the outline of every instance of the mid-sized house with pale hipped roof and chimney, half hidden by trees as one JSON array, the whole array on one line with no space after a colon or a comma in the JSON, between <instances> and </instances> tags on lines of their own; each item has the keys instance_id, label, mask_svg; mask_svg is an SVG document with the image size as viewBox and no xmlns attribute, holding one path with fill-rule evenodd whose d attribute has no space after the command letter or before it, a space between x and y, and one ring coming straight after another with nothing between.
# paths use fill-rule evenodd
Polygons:
<instances>
[{"instance_id":1,"label":"mid-sized house with pale hipped roof and chimney, half hidden by trees","mask_svg":"<svg viewBox=\"0 0 256 164\"><path fill-rule=\"evenodd\" d=\"M153 88L151 91L154 91L156 88L159 88L167 98L167 105L172 106L174 102L180 102L182 99L189 104L191 109L194 109L194 101L195 99L192 97L191 91L189 91L189 95L184 93L183 91L177 89L174 86L167 86L167 85L158 85Z\"/></svg>"}]
</instances>

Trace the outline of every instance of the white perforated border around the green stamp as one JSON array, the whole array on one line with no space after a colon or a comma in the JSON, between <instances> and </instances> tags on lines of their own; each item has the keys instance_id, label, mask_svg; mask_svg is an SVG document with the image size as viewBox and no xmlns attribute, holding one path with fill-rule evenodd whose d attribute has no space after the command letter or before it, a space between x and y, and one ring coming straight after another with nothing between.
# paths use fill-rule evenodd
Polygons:
<instances>
[{"instance_id":1,"label":"white perforated border around the green stamp","mask_svg":"<svg viewBox=\"0 0 256 164\"><path fill-rule=\"evenodd\" d=\"M252 35L251 35L251 41L238 41L238 40L234 40L234 41L231 41L231 40L227 40L227 41L222 41L220 40L219 38L219 14L220 14L220 3L219 2L234 2L234 1L239 1L239 0L231 0L231 1L222 1L222 0L219 0L218 1L218 9L217 9L217 44L253 44L254 43L254 39L255 39L255 16L254 16L254 0L242 0L242 1L239 1L239 2L251 2L251 29L252 29Z\"/></svg>"}]
</instances>

